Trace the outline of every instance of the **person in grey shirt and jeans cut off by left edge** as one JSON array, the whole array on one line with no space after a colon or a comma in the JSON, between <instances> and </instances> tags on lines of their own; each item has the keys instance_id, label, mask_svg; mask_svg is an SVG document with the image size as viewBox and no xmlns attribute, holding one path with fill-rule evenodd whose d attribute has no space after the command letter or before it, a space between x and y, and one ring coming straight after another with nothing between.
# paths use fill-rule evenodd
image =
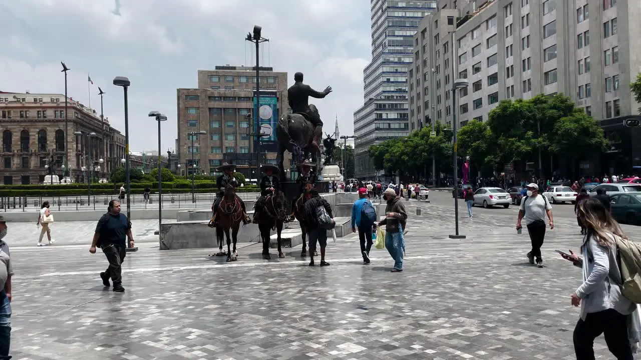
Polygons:
<instances>
[{"instance_id":1,"label":"person in grey shirt and jeans cut off by left edge","mask_svg":"<svg viewBox=\"0 0 641 360\"><path fill-rule=\"evenodd\" d=\"M4 242L6 221L0 216L0 360L11 359L11 277L13 268L9 245Z\"/></svg>"}]
</instances>

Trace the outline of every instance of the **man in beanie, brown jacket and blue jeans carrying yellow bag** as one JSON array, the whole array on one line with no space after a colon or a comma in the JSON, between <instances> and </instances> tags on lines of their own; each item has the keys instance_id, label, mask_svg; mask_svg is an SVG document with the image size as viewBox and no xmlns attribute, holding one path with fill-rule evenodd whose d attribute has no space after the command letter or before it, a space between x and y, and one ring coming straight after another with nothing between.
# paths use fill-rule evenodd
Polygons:
<instances>
[{"instance_id":1,"label":"man in beanie, brown jacket and blue jeans carrying yellow bag","mask_svg":"<svg viewBox=\"0 0 641 360\"><path fill-rule=\"evenodd\" d=\"M383 192L383 200L387 202L385 206L385 219L378 223L379 226L385 225L385 248L394 259L394 268L392 272L403 271L403 255L405 251L405 240L403 239L403 229L407 222L407 213L401 197L396 195L392 188L387 188Z\"/></svg>"}]
</instances>

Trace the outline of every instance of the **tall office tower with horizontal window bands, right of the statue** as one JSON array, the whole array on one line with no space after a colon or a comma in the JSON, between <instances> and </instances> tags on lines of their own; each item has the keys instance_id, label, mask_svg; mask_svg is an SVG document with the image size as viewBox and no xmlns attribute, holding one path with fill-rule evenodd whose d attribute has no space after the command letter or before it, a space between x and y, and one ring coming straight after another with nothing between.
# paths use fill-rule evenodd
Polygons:
<instances>
[{"instance_id":1,"label":"tall office tower with horizontal window bands, right of the statue","mask_svg":"<svg viewBox=\"0 0 641 360\"><path fill-rule=\"evenodd\" d=\"M413 35L436 1L371 0L372 62L363 69L364 104L354 111L355 176L380 175L367 153L370 145L407 136L407 68Z\"/></svg>"}]
</instances>

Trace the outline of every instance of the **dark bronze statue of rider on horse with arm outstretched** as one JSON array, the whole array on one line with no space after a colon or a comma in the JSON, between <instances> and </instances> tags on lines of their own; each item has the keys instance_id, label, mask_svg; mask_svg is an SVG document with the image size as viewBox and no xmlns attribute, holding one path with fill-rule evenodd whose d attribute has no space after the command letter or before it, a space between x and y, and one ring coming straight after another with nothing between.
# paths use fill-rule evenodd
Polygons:
<instances>
[{"instance_id":1,"label":"dark bronze statue of rider on horse with arm outstretched","mask_svg":"<svg viewBox=\"0 0 641 360\"><path fill-rule=\"evenodd\" d=\"M287 90L291 114L281 116L276 127L278 138L278 167L281 180L285 174L283 168L283 154L289 151L294 161L303 162L312 154L312 160L316 161L320 152L320 136L322 135L322 121L316 106L309 103L309 97L322 99L331 92L328 86L322 92L317 92L311 86L303 83L303 73L294 74L294 85Z\"/></svg>"}]
</instances>

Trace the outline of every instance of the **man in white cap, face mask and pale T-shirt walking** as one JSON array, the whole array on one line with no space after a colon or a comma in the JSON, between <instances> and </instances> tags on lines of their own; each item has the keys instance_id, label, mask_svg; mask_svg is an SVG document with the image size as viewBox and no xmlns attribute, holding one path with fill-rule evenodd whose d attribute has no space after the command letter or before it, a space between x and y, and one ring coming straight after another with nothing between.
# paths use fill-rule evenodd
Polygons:
<instances>
[{"instance_id":1,"label":"man in white cap, face mask and pale T-shirt walking","mask_svg":"<svg viewBox=\"0 0 641 360\"><path fill-rule=\"evenodd\" d=\"M538 185L530 183L526 185L528 195L523 198L519 208L519 220L517 220L517 230L521 229L521 220L525 219L528 227L529 240L532 243L532 250L528 252L530 264L534 264L537 259L537 266L543 267L543 258L541 257L541 247L545 238L545 215L549 218L550 229L554 229L554 220L552 219L552 206L543 195L538 193Z\"/></svg>"}]
</instances>

